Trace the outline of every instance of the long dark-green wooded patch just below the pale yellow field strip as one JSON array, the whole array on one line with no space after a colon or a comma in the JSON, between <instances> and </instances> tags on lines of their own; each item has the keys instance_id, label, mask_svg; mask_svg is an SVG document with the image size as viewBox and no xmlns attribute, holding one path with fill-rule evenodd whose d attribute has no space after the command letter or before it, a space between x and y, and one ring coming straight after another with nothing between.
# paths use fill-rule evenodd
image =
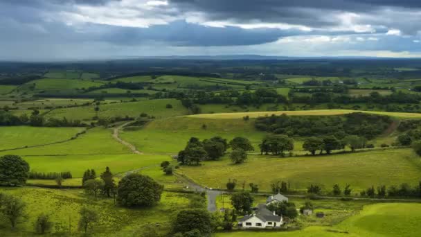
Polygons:
<instances>
[{"instance_id":1,"label":"long dark-green wooded patch just below the pale yellow field strip","mask_svg":"<svg viewBox=\"0 0 421 237\"><path fill-rule=\"evenodd\" d=\"M347 134L373 139L382 134L391 123L388 116L352 113L342 116L276 116L260 117L256 119L258 130L286 134L289 137L310 137L334 135L343 139Z\"/></svg>"}]
</instances>

